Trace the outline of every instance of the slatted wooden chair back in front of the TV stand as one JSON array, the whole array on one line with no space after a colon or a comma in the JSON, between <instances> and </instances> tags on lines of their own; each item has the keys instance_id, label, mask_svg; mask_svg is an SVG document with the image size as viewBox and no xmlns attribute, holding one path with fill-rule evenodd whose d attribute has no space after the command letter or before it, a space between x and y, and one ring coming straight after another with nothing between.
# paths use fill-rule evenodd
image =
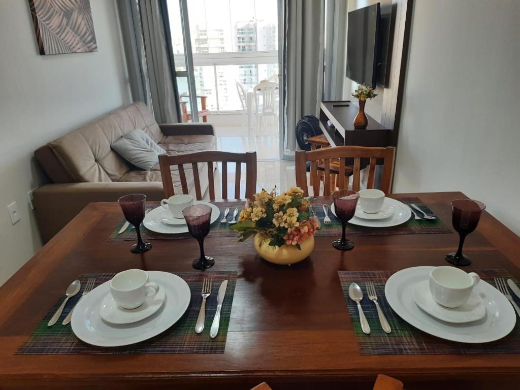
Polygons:
<instances>
[{"instance_id":1,"label":"slatted wooden chair back in front of the TV stand","mask_svg":"<svg viewBox=\"0 0 520 390\"><path fill-rule=\"evenodd\" d=\"M300 150L296 152L296 185L303 189L305 196L308 196L307 185L307 161L311 164L314 161L323 160L323 194L331 193L331 160L339 159L339 169L337 170L337 187L346 189L348 187L348 176L345 175L347 167L352 165L353 169L353 183L352 189L359 191L360 187L360 172L362 168L369 167L367 188L374 187L375 180L375 166L378 160L383 160L383 177L381 180L380 189L388 194L392 186L392 176L394 174L394 157L395 148L389 146L387 148L369 148L362 146L336 146L331 148L321 148L307 152ZM354 160L352 164L349 160ZM349 161L347 163L347 161ZM367 163L367 161L369 161ZM363 164L362 164L363 162ZM317 175L317 172L311 170L311 175ZM321 181L314 176L312 178L312 185L314 196L319 196Z\"/></svg>"}]
</instances>

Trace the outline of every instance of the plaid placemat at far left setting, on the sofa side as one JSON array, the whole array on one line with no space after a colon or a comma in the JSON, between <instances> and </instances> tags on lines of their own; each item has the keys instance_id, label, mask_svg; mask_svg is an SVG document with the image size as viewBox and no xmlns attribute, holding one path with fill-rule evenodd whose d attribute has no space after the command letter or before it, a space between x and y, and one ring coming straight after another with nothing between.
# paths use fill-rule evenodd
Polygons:
<instances>
[{"instance_id":1,"label":"plaid placemat at far left setting, on the sofa side","mask_svg":"<svg viewBox=\"0 0 520 390\"><path fill-rule=\"evenodd\" d=\"M220 215L215 220L214 223L211 224L211 230L209 235L207 235L208 238L210 237L238 237L238 233L235 230L231 230L231 225L229 224L220 224L220 220L224 218L224 211L226 210L226 207L229 207L229 214L227 216L227 220L230 221L233 219L233 210L238 209L239 213L244 207L244 202L215 202L214 203L218 210L220 210ZM146 204L147 208L151 208L152 210L155 209L155 207L158 207L159 203L157 202L149 202ZM238 215L237 215L238 220ZM120 235L118 235L118 231L121 229L121 227L124 225L126 220L123 218L118 226L110 233L109 238L107 241L137 241L137 233L135 231L134 226L130 225L128 228L122 232ZM141 238L143 241L146 240L175 240L179 238L192 238L190 233L179 233L175 235L166 235L162 233L156 233L154 231L148 230L146 227L141 226Z\"/></svg>"}]
</instances>

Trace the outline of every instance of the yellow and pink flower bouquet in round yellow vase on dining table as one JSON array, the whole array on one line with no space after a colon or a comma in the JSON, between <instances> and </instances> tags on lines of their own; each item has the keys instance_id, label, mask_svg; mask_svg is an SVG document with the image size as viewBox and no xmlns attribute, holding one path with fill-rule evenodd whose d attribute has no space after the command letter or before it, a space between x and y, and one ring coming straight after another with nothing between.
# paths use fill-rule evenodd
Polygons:
<instances>
[{"instance_id":1,"label":"yellow and pink flower bouquet in round yellow vase on dining table","mask_svg":"<svg viewBox=\"0 0 520 390\"><path fill-rule=\"evenodd\" d=\"M256 252L268 262L301 262L313 251L318 229L318 220L309 214L312 198L305 198L298 187L279 195L276 188L271 192L263 189L254 198L240 212L238 224L231 227L240 233L239 241L254 235Z\"/></svg>"}]
</instances>

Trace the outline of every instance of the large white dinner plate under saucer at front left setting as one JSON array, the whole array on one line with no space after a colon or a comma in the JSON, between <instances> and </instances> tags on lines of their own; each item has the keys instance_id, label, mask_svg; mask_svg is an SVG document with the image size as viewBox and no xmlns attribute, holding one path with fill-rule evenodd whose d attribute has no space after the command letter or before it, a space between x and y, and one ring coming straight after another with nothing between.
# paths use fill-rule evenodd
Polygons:
<instances>
[{"instance_id":1,"label":"large white dinner plate under saucer at front left setting","mask_svg":"<svg viewBox=\"0 0 520 390\"><path fill-rule=\"evenodd\" d=\"M150 281L164 287L166 299L161 308L150 317L129 324L111 324L101 319L99 309L103 298L110 292L109 282L90 291L72 312L74 334L88 344L100 347L118 347L148 340L164 332L183 316L190 303L190 288L170 272L148 271Z\"/></svg>"}]
</instances>

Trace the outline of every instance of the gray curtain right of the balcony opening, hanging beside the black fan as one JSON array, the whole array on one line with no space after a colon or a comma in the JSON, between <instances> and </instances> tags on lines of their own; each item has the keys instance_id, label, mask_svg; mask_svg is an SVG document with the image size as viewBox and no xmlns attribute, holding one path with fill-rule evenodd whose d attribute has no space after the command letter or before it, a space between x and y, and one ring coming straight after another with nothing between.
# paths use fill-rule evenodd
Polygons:
<instances>
[{"instance_id":1,"label":"gray curtain right of the balcony opening, hanging beside the black fan","mask_svg":"<svg viewBox=\"0 0 520 390\"><path fill-rule=\"evenodd\" d=\"M284 155L296 150L296 123L318 115L323 94L323 0L284 2Z\"/></svg>"}]
</instances>

